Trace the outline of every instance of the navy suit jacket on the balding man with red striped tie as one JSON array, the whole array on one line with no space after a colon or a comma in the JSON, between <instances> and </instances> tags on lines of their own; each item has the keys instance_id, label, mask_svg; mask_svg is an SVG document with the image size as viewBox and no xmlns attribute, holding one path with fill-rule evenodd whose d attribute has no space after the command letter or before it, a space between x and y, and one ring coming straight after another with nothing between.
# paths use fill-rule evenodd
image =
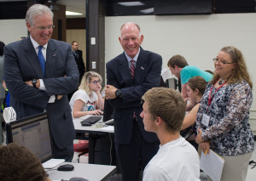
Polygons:
<instances>
[{"instance_id":1,"label":"navy suit jacket on the balding man with red striped tie","mask_svg":"<svg viewBox=\"0 0 256 181\"><path fill-rule=\"evenodd\" d=\"M121 89L122 98L109 100L113 106L114 139L118 144L129 144L132 135L132 115L135 111L143 138L150 142L158 140L155 133L146 132L140 113L143 111L141 99L150 88L159 87L162 58L141 48L137 59L134 81L131 78L125 52L110 60L107 65L109 85Z\"/></svg>"}]
</instances>

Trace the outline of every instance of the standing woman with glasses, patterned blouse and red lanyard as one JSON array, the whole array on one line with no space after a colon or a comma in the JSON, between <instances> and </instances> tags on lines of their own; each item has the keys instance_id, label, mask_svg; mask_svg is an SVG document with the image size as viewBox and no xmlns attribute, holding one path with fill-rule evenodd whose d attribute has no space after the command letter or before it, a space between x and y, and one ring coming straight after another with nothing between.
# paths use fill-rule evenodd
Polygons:
<instances>
[{"instance_id":1,"label":"standing woman with glasses, patterned blouse and red lanyard","mask_svg":"<svg viewBox=\"0 0 256 181\"><path fill-rule=\"evenodd\" d=\"M204 153L211 149L224 158L222 181L243 181L254 150L249 124L253 83L237 48L222 48L213 61L215 72L201 99L195 141Z\"/></svg>"}]
</instances>

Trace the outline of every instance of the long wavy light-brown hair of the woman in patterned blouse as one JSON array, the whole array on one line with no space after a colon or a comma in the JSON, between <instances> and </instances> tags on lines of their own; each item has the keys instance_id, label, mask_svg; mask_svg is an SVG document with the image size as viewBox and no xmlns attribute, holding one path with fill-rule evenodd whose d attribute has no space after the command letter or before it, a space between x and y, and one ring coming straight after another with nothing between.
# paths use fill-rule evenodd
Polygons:
<instances>
[{"instance_id":1,"label":"long wavy light-brown hair of the woman in patterned blouse","mask_svg":"<svg viewBox=\"0 0 256 181\"><path fill-rule=\"evenodd\" d=\"M236 82L241 82L242 79L244 79L250 85L250 87L253 88L253 82L251 82L250 80L250 76L247 71L247 65L241 54L241 51L232 46L221 48L220 51L226 54L230 54L232 62L236 63L236 67L232 75L230 76L228 83L233 84ZM214 72L214 75L212 77L212 83L217 82L219 77L220 76L218 76L218 74Z\"/></svg>"}]
</instances>

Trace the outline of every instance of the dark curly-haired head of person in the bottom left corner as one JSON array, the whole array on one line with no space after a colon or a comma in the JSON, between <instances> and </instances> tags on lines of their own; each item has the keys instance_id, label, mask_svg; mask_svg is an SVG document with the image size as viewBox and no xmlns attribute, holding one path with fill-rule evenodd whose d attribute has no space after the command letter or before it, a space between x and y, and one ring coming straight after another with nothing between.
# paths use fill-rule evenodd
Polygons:
<instances>
[{"instance_id":1,"label":"dark curly-haired head of person in the bottom left corner","mask_svg":"<svg viewBox=\"0 0 256 181\"><path fill-rule=\"evenodd\" d=\"M38 157L17 144L0 146L0 180L50 181Z\"/></svg>"}]
</instances>

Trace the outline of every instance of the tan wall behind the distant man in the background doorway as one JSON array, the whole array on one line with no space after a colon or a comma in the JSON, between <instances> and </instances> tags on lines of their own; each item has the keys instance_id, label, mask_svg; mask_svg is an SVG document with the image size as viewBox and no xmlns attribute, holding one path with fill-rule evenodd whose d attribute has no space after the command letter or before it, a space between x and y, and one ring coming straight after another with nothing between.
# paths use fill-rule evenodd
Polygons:
<instances>
[{"instance_id":1,"label":"tan wall behind the distant man in the background doorway","mask_svg":"<svg viewBox=\"0 0 256 181\"><path fill-rule=\"evenodd\" d=\"M84 65L86 66L86 30L75 29L67 30L67 42L79 42L79 50L83 51Z\"/></svg>"}]
</instances>

